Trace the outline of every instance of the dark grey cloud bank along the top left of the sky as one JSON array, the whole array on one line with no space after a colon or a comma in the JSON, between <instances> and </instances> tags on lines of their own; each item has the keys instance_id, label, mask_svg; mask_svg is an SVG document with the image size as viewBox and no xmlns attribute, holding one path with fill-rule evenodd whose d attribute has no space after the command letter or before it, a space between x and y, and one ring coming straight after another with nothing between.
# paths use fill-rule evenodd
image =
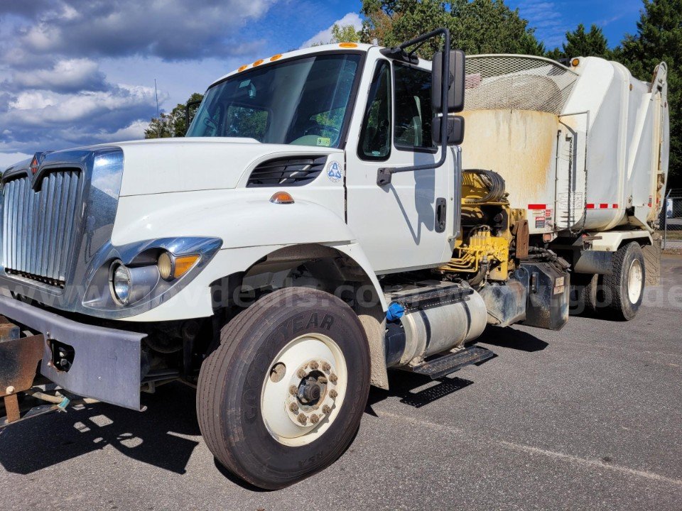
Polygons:
<instances>
[{"instance_id":1,"label":"dark grey cloud bank along the top left of the sky","mask_svg":"<svg viewBox=\"0 0 682 511\"><path fill-rule=\"evenodd\" d=\"M232 53L228 43L275 1L52 0L52 9L26 11L29 24L19 28L14 38L17 48L36 55L193 60ZM0 3L0 16L5 9Z\"/></svg>"}]
</instances>

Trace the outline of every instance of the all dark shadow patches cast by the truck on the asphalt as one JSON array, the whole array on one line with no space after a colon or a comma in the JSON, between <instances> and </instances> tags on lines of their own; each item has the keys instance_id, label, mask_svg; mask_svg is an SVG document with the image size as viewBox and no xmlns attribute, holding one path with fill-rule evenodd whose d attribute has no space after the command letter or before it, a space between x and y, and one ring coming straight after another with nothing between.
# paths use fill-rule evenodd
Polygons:
<instances>
[{"instance_id":1,"label":"all dark shadow patches cast by the truck on the asphalt","mask_svg":"<svg viewBox=\"0 0 682 511\"><path fill-rule=\"evenodd\" d=\"M480 341L524 351L539 351L547 346L524 331L491 326ZM491 360L494 358L488 361ZM389 397L398 397L401 403L419 408L473 383L453 375L431 380L401 371L390 371L389 381L391 390L370 391L368 414L376 415L372 406ZM26 475L112 446L134 460L184 474L201 434L195 396L194 390L171 384L159 388L154 395L143 395L146 412L99 403L7 427L0 430L0 465L8 472ZM244 484L228 476L227 471L220 471L229 480Z\"/></svg>"}]
</instances>

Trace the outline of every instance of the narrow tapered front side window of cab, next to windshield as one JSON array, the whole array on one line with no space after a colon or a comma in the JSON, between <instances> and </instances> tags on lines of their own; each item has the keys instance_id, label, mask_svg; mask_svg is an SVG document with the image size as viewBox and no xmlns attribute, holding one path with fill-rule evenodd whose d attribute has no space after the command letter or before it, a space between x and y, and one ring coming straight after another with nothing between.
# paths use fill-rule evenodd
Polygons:
<instances>
[{"instance_id":1,"label":"narrow tapered front side window of cab, next to windshield","mask_svg":"<svg viewBox=\"0 0 682 511\"><path fill-rule=\"evenodd\" d=\"M386 60L374 72L357 153L362 160L386 160L391 155L391 66Z\"/></svg>"}]
</instances>

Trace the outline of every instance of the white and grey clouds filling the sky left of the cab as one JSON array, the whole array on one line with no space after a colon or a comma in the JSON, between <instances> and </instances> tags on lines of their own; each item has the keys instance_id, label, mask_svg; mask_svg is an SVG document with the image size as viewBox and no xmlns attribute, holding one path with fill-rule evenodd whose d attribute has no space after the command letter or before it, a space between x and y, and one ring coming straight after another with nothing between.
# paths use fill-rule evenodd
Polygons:
<instances>
[{"instance_id":1,"label":"white and grey clouds filling the sky left of the cab","mask_svg":"<svg viewBox=\"0 0 682 511\"><path fill-rule=\"evenodd\" d=\"M256 60L277 1L0 0L0 166L143 137L154 80L170 109Z\"/></svg>"}]
</instances>

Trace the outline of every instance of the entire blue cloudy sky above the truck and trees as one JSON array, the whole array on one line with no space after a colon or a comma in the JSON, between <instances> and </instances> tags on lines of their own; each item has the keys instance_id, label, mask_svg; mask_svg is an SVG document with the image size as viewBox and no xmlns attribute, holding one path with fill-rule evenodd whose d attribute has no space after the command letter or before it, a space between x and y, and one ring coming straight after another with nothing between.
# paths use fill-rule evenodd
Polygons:
<instances>
[{"instance_id":1,"label":"entire blue cloudy sky above the truck and trees","mask_svg":"<svg viewBox=\"0 0 682 511\"><path fill-rule=\"evenodd\" d=\"M641 0L507 0L547 48L578 23L611 46ZM248 62L361 26L359 0L0 0L0 170L39 150L144 136L149 119ZM154 80L158 84L154 87Z\"/></svg>"}]
</instances>

